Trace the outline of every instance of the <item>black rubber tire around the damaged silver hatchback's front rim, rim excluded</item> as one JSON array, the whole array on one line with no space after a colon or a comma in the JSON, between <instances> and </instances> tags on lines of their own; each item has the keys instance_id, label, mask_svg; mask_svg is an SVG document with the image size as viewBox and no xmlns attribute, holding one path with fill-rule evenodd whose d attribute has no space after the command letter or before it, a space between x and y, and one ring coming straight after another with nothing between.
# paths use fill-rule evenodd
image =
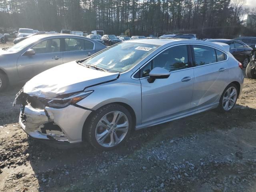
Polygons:
<instances>
[{"instance_id":1,"label":"black rubber tire around the damaged silver hatchback's front rim, rim excluded","mask_svg":"<svg viewBox=\"0 0 256 192\"><path fill-rule=\"evenodd\" d=\"M129 121L129 128L128 128L128 132L125 136L125 138L116 146L113 147L104 147L101 146L100 144L98 144L98 142L96 141L95 138L95 130L96 130L96 126L98 124L98 122L100 121L100 119L106 115L109 112L112 111L121 111L123 112ZM99 108L98 110L93 112L94 114L92 115L92 117L90 118L90 122L88 123L88 125L85 125L86 131L85 131L85 138L88 142L90 142L90 144L92 146L94 146L94 148L98 149L98 150L104 150L104 151L109 151L109 150L113 150L115 148L117 148L118 146L120 146L130 135L130 132L132 130L132 116L130 114L130 112L122 105L119 104L108 104L106 106L103 106L101 108Z\"/></svg>"}]
</instances>

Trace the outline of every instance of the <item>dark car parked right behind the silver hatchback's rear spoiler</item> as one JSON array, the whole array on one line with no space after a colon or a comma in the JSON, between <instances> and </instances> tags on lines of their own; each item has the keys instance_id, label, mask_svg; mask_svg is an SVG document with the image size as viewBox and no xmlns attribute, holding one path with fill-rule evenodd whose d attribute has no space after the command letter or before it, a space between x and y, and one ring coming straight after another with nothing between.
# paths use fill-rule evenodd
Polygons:
<instances>
[{"instance_id":1,"label":"dark car parked right behind the silver hatchback's rear spoiler","mask_svg":"<svg viewBox=\"0 0 256 192\"><path fill-rule=\"evenodd\" d=\"M230 47L230 53L243 64L244 67L250 62L250 54L252 48L242 41L234 39L209 39L208 42L221 42L226 43Z\"/></svg>"}]
</instances>

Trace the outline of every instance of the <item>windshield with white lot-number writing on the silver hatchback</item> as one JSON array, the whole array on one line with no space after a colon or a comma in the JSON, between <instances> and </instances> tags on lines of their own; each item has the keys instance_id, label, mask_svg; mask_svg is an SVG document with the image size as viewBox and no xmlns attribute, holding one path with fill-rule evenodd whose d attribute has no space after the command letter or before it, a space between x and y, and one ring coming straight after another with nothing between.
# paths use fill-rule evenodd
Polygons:
<instances>
[{"instance_id":1,"label":"windshield with white lot-number writing on the silver hatchback","mask_svg":"<svg viewBox=\"0 0 256 192\"><path fill-rule=\"evenodd\" d=\"M158 47L151 44L124 42L86 59L82 65L96 66L111 73L124 72ZM113 53L115 53L114 56Z\"/></svg>"}]
</instances>

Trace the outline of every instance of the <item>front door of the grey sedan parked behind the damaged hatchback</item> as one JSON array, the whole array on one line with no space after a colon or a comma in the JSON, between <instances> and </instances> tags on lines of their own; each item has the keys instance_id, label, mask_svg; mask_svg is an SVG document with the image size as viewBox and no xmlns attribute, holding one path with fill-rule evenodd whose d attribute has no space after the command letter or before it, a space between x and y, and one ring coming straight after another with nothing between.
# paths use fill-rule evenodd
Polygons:
<instances>
[{"instance_id":1,"label":"front door of the grey sedan parked behind the damaged hatchback","mask_svg":"<svg viewBox=\"0 0 256 192\"><path fill-rule=\"evenodd\" d=\"M20 79L30 79L44 70L63 64L60 45L60 38L49 38L31 47L34 55L21 54L17 60Z\"/></svg>"}]
</instances>

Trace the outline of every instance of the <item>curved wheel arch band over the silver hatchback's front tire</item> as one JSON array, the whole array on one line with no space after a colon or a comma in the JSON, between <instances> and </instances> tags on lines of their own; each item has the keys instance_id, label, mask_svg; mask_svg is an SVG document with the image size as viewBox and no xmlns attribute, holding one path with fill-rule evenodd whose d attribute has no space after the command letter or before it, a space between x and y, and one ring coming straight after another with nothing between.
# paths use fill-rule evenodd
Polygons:
<instances>
[{"instance_id":1,"label":"curved wheel arch band over the silver hatchback's front tire","mask_svg":"<svg viewBox=\"0 0 256 192\"><path fill-rule=\"evenodd\" d=\"M112 103L108 103L108 104L106 104L104 106L107 106L109 104L119 104L119 105L122 105L122 106L124 106L124 108L126 108L130 112L130 114L132 116L132 130L134 130L135 126L136 126L136 114L135 114L134 110L132 109L132 107L130 105L126 104L126 103L123 103L123 102L112 102ZM104 106L100 106L100 108L102 108ZM98 110L98 109L96 109L96 110ZM85 138L86 138L85 137L86 125L90 122L90 120L94 116L94 113L95 113L96 110L92 111L90 113L90 115L86 118L86 120L84 121L84 126L83 126L83 129L82 129L82 141L85 141Z\"/></svg>"}]
</instances>

